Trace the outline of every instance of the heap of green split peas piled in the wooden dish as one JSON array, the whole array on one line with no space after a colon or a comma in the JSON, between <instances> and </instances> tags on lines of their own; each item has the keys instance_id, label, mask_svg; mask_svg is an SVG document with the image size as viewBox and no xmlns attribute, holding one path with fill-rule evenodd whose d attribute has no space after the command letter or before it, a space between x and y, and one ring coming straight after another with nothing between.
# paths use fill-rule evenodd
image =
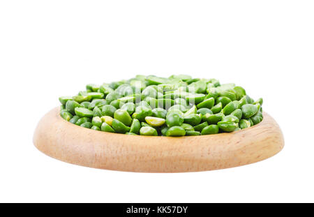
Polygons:
<instances>
[{"instance_id":1,"label":"heap of green split peas piled in the wooden dish","mask_svg":"<svg viewBox=\"0 0 314 217\"><path fill-rule=\"evenodd\" d=\"M63 96L60 115L84 128L128 135L209 135L259 124L262 98L216 79L136 75L130 80L87 84Z\"/></svg>"}]
</instances>

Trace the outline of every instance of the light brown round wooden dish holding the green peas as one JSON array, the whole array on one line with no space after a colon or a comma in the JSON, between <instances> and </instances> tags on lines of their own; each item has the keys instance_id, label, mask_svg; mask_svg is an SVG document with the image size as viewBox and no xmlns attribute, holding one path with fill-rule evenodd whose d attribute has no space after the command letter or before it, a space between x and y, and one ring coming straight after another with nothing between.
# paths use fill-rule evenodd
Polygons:
<instances>
[{"instance_id":1,"label":"light brown round wooden dish holding the green peas","mask_svg":"<svg viewBox=\"0 0 314 217\"><path fill-rule=\"evenodd\" d=\"M255 163L284 146L276 121L264 112L260 124L233 133L160 137L123 135L70 124L54 108L39 121L33 144L68 163L131 172L195 172Z\"/></svg>"}]
</instances>

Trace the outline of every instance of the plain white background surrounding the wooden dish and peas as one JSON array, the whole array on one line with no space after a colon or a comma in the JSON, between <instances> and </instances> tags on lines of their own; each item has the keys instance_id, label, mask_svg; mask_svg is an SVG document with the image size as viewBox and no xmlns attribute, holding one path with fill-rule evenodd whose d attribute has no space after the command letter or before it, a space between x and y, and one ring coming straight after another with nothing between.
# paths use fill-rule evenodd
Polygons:
<instances>
[{"instance_id":1,"label":"plain white background surrounding the wooden dish and peas","mask_svg":"<svg viewBox=\"0 0 314 217\"><path fill-rule=\"evenodd\" d=\"M0 202L314 202L313 11L313 1L0 1ZM179 73L262 96L283 151L147 174L70 165L32 144L59 96Z\"/></svg>"}]
</instances>

